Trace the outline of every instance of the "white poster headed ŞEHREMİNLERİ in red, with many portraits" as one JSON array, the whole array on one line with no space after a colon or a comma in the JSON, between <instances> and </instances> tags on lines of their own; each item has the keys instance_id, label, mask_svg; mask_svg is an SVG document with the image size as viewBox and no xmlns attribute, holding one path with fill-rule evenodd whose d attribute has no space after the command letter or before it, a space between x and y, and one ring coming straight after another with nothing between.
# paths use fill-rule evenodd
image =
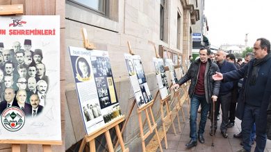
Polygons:
<instances>
[{"instance_id":1,"label":"white poster headed \u015eEHREM\u0130NLER\u0130 in red, with many portraits","mask_svg":"<svg viewBox=\"0 0 271 152\"><path fill-rule=\"evenodd\" d=\"M0 22L0 140L60 143L60 17Z\"/></svg>"}]
</instances>

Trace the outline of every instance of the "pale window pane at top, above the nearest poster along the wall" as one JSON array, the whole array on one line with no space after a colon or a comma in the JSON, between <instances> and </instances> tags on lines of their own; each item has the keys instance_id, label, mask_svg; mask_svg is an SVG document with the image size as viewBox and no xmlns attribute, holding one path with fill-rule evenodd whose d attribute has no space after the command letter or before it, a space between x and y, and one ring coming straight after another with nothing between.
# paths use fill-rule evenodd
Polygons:
<instances>
[{"instance_id":1,"label":"pale window pane at top, above the nearest poster along the wall","mask_svg":"<svg viewBox=\"0 0 271 152\"><path fill-rule=\"evenodd\" d=\"M106 15L106 0L68 0L73 3L94 10L102 15Z\"/></svg>"}]
</instances>

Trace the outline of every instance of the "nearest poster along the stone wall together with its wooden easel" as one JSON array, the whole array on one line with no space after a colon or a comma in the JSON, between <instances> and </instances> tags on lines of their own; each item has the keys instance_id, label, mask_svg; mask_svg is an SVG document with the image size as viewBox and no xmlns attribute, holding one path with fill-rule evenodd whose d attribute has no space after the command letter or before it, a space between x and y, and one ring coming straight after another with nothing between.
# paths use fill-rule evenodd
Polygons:
<instances>
[{"instance_id":1,"label":"nearest poster along the stone wall together with its wooden easel","mask_svg":"<svg viewBox=\"0 0 271 152\"><path fill-rule=\"evenodd\" d=\"M124 121L124 115L117 100L108 52L95 50L95 46L88 41L85 28L82 29L82 33L85 48L69 47L86 132L79 151L83 151L87 142L90 143L90 151L96 151L95 138L104 134L108 151L113 152L109 133L112 128L116 130L122 151L129 151L125 149L120 133L119 124Z\"/></svg>"}]
</instances>

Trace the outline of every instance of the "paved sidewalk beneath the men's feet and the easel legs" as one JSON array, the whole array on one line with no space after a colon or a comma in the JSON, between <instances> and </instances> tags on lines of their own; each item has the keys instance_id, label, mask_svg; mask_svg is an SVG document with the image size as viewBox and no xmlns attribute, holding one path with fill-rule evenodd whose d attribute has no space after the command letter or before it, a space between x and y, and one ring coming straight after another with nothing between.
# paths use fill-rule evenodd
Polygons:
<instances>
[{"instance_id":1,"label":"paved sidewalk beneath the men's feet and the easel legs","mask_svg":"<svg viewBox=\"0 0 271 152\"><path fill-rule=\"evenodd\" d=\"M179 114L181 115L181 111L179 112L180 112ZM190 141L190 137L189 137L190 126L189 126L189 117L187 115L187 112L185 112L185 115L186 115L186 122L181 124L181 132L179 132L179 129L177 128L178 126L178 122L176 120L177 117L175 117L174 119L174 124L176 127L176 135L174 135L172 126L170 126L170 129L167 131L168 148L165 149L164 140L161 142L164 152L181 152L181 151L201 151L201 152L233 151L235 152L243 148L243 146L240 145L241 139L233 138L233 134L240 133L241 131L241 121L236 118L235 125L232 128L229 128L227 131L229 137L224 138L222 137L222 134L220 133L220 130L219 130L220 124L221 124L221 115L220 115L220 120L217 122L218 124L217 133L215 133L215 136L214 136L215 146L211 146L212 137L209 135L209 132L211 131L210 129L211 121L208 119L206 122L206 127L205 127L205 132L204 132L205 143L201 144L200 142L197 142L197 146L194 146L191 149L186 149L186 143ZM198 113L197 124L199 124L199 118L200 118L200 113ZM256 144L252 145L252 151L254 151L255 146ZM160 150L157 149L156 151L160 151ZM271 140L267 141L266 146L265 146L265 151L271 152Z\"/></svg>"}]
</instances>

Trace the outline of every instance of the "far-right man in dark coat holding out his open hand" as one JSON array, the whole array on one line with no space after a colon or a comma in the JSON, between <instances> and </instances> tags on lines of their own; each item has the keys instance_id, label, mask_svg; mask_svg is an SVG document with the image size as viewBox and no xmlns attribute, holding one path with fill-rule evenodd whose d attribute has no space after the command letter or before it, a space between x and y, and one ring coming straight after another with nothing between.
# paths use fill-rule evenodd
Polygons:
<instances>
[{"instance_id":1,"label":"far-right man in dark coat holding out his open hand","mask_svg":"<svg viewBox=\"0 0 271 152\"><path fill-rule=\"evenodd\" d=\"M254 43L255 59L239 70L229 73L216 73L213 79L230 82L244 78L238 104L243 104L242 134L243 149L251 151L250 133L252 125L256 124L255 151L264 151L266 144L267 108L271 102L271 54L270 41L265 38L257 39ZM239 105L240 106L240 105Z\"/></svg>"}]
</instances>

